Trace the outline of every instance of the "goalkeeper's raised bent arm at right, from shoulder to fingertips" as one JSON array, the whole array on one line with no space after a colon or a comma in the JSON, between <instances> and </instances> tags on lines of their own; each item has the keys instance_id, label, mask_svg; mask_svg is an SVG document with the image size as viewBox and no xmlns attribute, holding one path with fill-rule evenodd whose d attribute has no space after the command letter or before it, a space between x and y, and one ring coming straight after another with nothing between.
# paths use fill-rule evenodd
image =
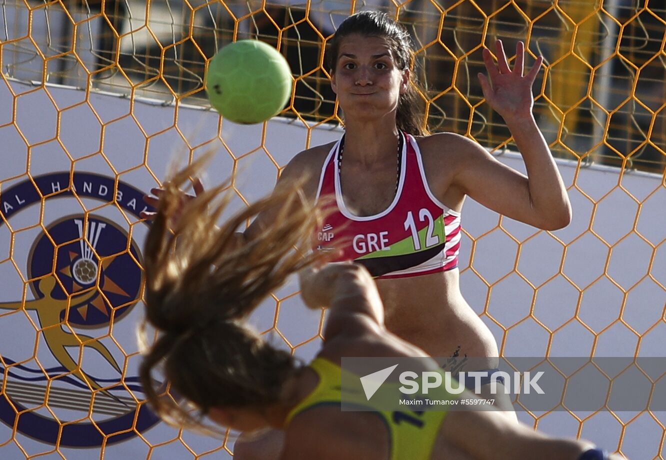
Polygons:
<instances>
[{"instance_id":1,"label":"goalkeeper's raised bent arm at right, from shoulder to fingertips","mask_svg":"<svg viewBox=\"0 0 666 460\"><path fill-rule=\"evenodd\" d=\"M488 77L479 74L479 79L484 98L511 131L525 162L527 176L504 166L482 146L463 136L433 136L433 142L437 142L437 150L446 149L455 157L455 161L450 162L455 168L450 186L500 214L538 228L555 230L569 224L571 204L532 113L532 85L542 58L539 57L523 76L523 43L517 44L515 52L515 64L510 69L501 41L496 42L497 63L485 49Z\"/></svg>"}]
</instances>

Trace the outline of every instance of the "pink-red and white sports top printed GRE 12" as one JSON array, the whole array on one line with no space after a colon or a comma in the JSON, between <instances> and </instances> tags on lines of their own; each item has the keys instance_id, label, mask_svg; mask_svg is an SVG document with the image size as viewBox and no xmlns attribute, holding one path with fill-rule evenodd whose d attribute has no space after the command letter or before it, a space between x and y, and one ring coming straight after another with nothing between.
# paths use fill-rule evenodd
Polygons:
<instances>
[{"instance_id":1,"label":"pink-red and white sports top printed GRE 12","mask_svg":"<svg viewBox=\"0 0 666 460\"><path fill-rule=\"evenodd\" d=\"M317 198L335 196L317 234L318 250L344 242L341 260L354 260L378 278L404 278L458 267L460 212L442 204L428 188L416 139L402 134L398 191L386 210L355 216L344 205L338 158L340 139L326 157Z\"/></svg>"}]
</instances>

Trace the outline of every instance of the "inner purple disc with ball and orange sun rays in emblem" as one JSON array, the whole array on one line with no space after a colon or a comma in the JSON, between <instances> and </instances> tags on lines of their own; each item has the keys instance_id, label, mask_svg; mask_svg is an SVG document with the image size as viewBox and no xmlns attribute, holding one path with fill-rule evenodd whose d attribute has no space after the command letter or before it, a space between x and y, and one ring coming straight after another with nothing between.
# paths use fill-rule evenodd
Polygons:
<instances>
[{"instance_id":1,"label":"inner purple disc with ball and orange sun rays in emblem","mask_svg":"<svg viewBox=\"0 0 666 460\"><path fill-rule=\"evenodd\" d=\"M142 272L135 261L141 256L135 242L126 250L127 234L110 220L91 214L84 221L83 216L68 216L37 238L29 256L29 276L35 280L31 288L35 297L49 296L54 302L71 297L69 324L109 326L112 312L117 322L139 299ZM53 262L55 284L43 278L53 271ZM91 290L98 278L99 288ZM53 290L45 292L40 288L44 284L53 284ZM59 321L65 319L65 307L59 306Z\"/></svg>"}]
</instances>

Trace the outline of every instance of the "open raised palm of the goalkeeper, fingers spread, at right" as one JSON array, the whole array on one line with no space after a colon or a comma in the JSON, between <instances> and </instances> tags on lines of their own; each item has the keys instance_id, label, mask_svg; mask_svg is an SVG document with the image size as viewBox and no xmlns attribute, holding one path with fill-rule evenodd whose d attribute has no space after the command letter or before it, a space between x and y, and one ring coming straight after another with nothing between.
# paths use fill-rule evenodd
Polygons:
<instances>
[{"instance_id":1,"label":"open raised palm of the goalkeeper, fingers spread, at right","mask_svg":"<svg viewBox=\"0 0 666 460\"><path fill-rule=\"evenodd\" d=\"M495 42L497 63L493 61L490 50L484 49L484 63L488 76L479 73L481 89L490 107L499 113L505 121L511 118L531 117L534 98L532 84L537 77L543 56L539 56L533 67L523 76L525 64L525 45L519 41L515 46L515 63L509 68L501 40Z\"/></svg>"}]
</instances>

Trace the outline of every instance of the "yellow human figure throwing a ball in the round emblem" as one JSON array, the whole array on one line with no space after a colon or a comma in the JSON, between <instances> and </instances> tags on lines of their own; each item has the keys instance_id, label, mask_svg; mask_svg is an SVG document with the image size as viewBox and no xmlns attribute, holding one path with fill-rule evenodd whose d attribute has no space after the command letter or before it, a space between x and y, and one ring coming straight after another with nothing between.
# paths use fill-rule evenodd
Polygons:
<instances>
[{"instance_id":1,"label":"yellow human figure throwing a ball in the round emblem","mask_svg":"<svg viewBox=\"0 0 666 460\"><path fill-rule=\"evenodd\" d=\"M49 349L51 349L53 356L55 356L55 358L68 371L70 371L72 375L81 379L91 389L101 389L101 385L81 370L80 363L77 363L77 361L71 357L65 347L74 346L79 347L79 349L90 347L95 349L119 373L123 373L123 371L104 344L99 342L99 340L84 334L65 332L62 329L63 322L60 320L60 314L65 308L67 308L67 304L74 306L88 302L93 296L95 296L95 294L97 294L97 290L93 289L78 296L72 296L69 300L57 300L51 296L55 284L55 277L53 275L47 276L47 278L43 278L39 281L39 290L44 294L43 298L31 300L25 302L25 304L23 304L23 302L0 302L0 308L3 310L21 310L21 308L25 308L25 310L35 310L37 312L37 318L39 318L41 332L44 335L44 339L46 340ZM81 359L79 359L79 361L81 361ZM107 391L103 392L109 395ZM113 395L109 396L113 397ZM115 397L113 398L117 399Z\"/></svg>"}]
</instances>

